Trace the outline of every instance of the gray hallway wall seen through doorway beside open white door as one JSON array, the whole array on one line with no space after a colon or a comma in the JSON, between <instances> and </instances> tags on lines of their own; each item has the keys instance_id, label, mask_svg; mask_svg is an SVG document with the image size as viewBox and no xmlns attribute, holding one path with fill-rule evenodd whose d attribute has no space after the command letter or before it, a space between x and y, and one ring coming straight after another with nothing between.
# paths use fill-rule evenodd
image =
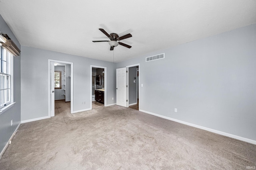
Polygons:
<instances>
[{"instance_id":1,"label":"gray hallway wall seen through doorway beside open white door","mask_svg":"<svg viewBox=\"0 0 256 170\"><path fill-rule=\"evenodd\" d=\"M135 67L130 67L129 68L129 84L128 84L128 87L129 87L129 104L134 104L137 102L137 99L136 99L136 82L134 83L134 80L137 81L137 78L136 78L136 66Z\"/></svg>"}]
</instances>

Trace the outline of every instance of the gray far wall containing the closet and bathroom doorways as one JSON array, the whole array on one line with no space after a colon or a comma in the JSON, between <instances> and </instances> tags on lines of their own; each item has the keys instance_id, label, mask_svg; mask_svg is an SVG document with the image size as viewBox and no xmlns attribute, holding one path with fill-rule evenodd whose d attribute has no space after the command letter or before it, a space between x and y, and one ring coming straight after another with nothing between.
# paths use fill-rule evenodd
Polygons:
<instances>
[{"instance_id":1,"label":"gray far wall containing the closet and bathroom doorways","mask_svg":"<svg viewBox=\"0 0 256 170\"><path fill-rule=\"evenodd\" d=\"M116 63L32 47L21 49L22 121L48 116L48 59L74 63L74 111L90 108L90 65L107 67L107 104L116 103ZM40 83L35 84L38 78Z\"/></svg>"}]
</instances>

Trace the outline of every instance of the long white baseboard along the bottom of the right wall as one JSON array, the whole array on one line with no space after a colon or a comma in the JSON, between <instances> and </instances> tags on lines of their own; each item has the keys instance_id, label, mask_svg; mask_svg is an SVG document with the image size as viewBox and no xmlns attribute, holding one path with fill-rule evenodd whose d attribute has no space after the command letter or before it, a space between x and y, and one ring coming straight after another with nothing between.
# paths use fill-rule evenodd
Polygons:
<instances>
[{"instance_id":1,"label":"long white baseboard along the bottom of the right wall","mask_svg":"<svg viewBox=\"0 0 256 170\"><path fill-rule=\"evenodd\" d=\"M244 137L232 135L230 133L210 129L208 127L203 127L203 126L195 125L195 124L188 123L188 122L185 122L185 121L181 121L181 120L178 120L178 119L173 119L173 118L166 117L166 116L163 116L163 115L158 115L156 113L152 113L152 112L149 112L149 111L145 111L145 110L141 110L141 109L140 109L140 111L142 111L144 113L148 113L150 115L154 115L154 116L157 116L157 117L162 117L164 119L168 119L168 120L171 120L171 121L176 121L178 123L182 123L182 124L185 124L185 125L189 125L189 126L192 126L192 127L196 127L196 128L199 128L199 129L203 129L203 130L206 130L206 131L210 131L210 132L213 132L213 133L217 133L217 134L220 134L220 135L224 135L224 136L227 136L227 137L231 137L231 138L234 138L234 139L238 139L240 141L245 141L245 142L252 143L252 144L256 145L256 141L254 141L252 139L247 139L247 138L244 138Z\"/></svg>"}]
</instances>

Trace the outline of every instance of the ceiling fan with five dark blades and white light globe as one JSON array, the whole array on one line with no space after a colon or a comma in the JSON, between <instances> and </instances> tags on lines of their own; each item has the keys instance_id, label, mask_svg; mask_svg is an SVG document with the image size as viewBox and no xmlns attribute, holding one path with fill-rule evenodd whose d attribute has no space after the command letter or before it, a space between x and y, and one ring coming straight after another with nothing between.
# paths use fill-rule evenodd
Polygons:
<instances>
[{"instance_id":1,"label":"ceiling fan with five dark blades and white light globe","mask_svg":"<svg viewBox=\"0 0 256 170\"><path fill-rule=\"evenodd\" d=\"M94 43L96 43L96 42L108 42L109 45L111 46L110 50L114 50L114 47L116 47L118 45L122 45L124 47L129 48L129 49L132 47L130 45L127 45L127 44L124 44L124 43L121 43L121 42L117 42L117 41L120 41L122 39L126 39L126 38L132 37L132 34L128 33L126 35L123 35L123 36L119 37L119 35L117 33L110 33L110 34L108 34L104 29L102 29L102 28L99 28L99 29L100 29L100 31L102 31L110 39L110 41L108 41L108 40L104 41L103 40L103 41L92 41L92 42L94 42Z\"/></svg>"}]
</instances>

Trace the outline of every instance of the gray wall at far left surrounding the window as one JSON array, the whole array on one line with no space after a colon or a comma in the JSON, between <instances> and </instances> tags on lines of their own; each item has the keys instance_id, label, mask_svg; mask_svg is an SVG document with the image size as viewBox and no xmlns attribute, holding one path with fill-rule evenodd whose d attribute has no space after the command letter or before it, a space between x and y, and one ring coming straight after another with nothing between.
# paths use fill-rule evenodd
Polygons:
<instances>
[{"instance_id":1,"label":"gray wall at far left surrounding the window","mask_svg":"<svg viewBox=\"0 0 256 170\"><path fill-rule=\"evenodd\" d=\"M20 43L0 15L0 31L8 34L14 43L20 48ZM20 58L14 57L14 106L0 115L0 152L14 133L20 123ZM13 125L11 126L11 120Z\"/></svg>"}]
</instances>

